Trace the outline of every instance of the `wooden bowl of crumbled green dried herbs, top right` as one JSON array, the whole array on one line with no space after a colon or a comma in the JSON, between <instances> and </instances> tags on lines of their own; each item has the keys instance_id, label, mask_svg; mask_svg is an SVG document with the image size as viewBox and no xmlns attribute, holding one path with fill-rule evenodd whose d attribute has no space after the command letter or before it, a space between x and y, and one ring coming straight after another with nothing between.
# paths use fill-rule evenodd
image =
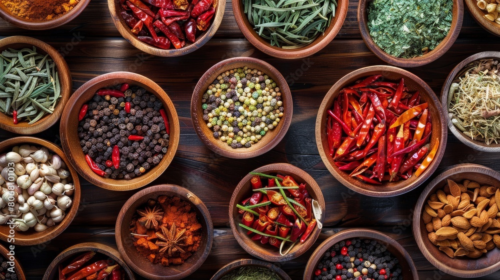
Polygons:
<instances>
[{"instance_id":1,"label":"wooden bowl of crumbled green dried herbs, top right","mask_svg":"<svg viewBox=\"0 0 500 280\"><path fill-rule=\"evenodd\" d=\"M416 67L443 55L462 25L461 0L359 0L359 31L378 58Z\"/></svg>"}]
</instances>

